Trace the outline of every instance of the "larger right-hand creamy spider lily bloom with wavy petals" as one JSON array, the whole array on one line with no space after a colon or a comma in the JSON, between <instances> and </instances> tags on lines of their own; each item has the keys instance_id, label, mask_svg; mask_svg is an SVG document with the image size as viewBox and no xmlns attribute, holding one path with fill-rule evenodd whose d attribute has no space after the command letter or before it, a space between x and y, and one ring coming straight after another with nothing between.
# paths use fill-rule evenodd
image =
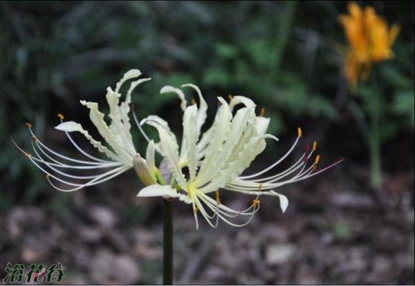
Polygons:
<instances>
[{"instance_id":1,"label":"larger right-hand creamy spider lily bloom with wavy petals","mask_svg":"<svg viewBox=\"0 0 415 286\"><path fill-rule=\"evenodd\" d=\"M181 99L181 108L184 114L180 154L176 137L170 131L167 122L154 116L147 117L140 122L140 125L147 123L157 129L160 137L160 142L157 144L158 151L167 160L169 170L172 173L172 182L169 185L149 185L142 189L138 196L168 196L192 204L196 227L199 227L197 221L198 211L212 227L218 225L219 219L229 225L241 227L247 225L259 210L259 196L279 197L279 204L284 212L288 207L288 199L272 189L310 178L324 171L314 172L320 160L318 155L311 166L307 166L308 159L311 158L317 146L314 143L311 152L306 151L293 166L282 173L266 178L257 178L277 166L295 149L302 135L299 128L293 146L281 159L258 173L241 175L255 157L264 151L266 139L278 140L277 137L266 134L270 122L269 118L256 116L256 105L248 97L233 97L230 104L225 102L222 97L218 97L221 106L216 113L214 123L208 131L201 135L201 126L205 122L207 105L197 86L187 84L182 87L186 86L194 88L198 93L199 108L196 104L187 106L185 96L182 90L178 88L165 86L160 90L160 93L174 92ZM232 111L237 104L243 104L244 107L240 108L233 116ZM140 128L140 130L142 129ZM189 169L187 176L182 171L185 166ZM221 203L219 189L237 191L257 197L252 200L249 207L237 211ZM208 193L213 192L216 194L216 199L208 196ZM248 220L242 224L229 220L229 218L236 216L247 216Z\"/></svg>"}]
</instances>

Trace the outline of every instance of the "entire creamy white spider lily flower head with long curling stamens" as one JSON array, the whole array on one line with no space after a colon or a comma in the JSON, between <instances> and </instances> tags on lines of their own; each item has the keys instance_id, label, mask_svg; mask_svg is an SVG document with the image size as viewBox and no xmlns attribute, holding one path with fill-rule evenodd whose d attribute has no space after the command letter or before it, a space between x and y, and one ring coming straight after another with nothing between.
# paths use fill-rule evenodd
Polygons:
<instances>
[{"instance_id":1,"label":"entire creamy white spider lily flower head with long curling stamens","mask_svg":"<svg viewBox=\"0 0 415 286\"><path fill-rule=\"evenodd\" d=\"M185 84L181 87L192 89L197 93L199 106L195 100L187 106L187 100L181 88L165 86L160 90L160 93L176 93L181 99L183 137L180 151L176 135L170 130L165 120L157 115L149 115L138 122L136 116L133 115L142 135L148 141L144 159L133 145L129 122L131 93L136 86L149 80L148 78L137 79L140 75L139 70L129 70L116 84L115 90L107 88L108 117L111 120L109 125L104 120L104 114L98 110L97 103L81 101L82 105L89 108L91 122L106 142L104 144L89 135L81 124L73 121L64 122L63 115L58 115L61 124L55 128L66 133L75 149L85 157L84 160L71 158L50 149L35 136L30 124L27 126L33 136L34 155L16 145L17 148L46 173L48 182L59 191L75 191L99 184L133 168L140 180L147 186L139 191L139 197L178 198L190 204L196 227L199 226L199 212L212 227L216 227L219 220L236 227L246 225L259 210L260 196L277 196L282 211L285 211L288 207L288 199L273 189L310 178L341 162L340 160L317 171L320 156L314 155L317 148L317 142L314 142L312 148L307 148L288 169L276 173L275 167L286 160L302 137L302 130L298 128L293 145L282 158L257 173L243 175L257 155L264 151L267 140L278 141L277 137L266 133L270 119L263 116L263 111L257 115L256 104L248 97L230 97L230 102L218 97L219 108L214 122L210 128L202 132L208 104L201 90L194 84ZM124 101L120 102L120 88L130 79L136 80L131 82ZM156 128L160 139L158 142L151 140L145 133L142 128L144 124ZM109 160L96 158L84 151L71 137L73 132L84 135L86 140L100 153L104 153ZM171 174L168 182L165 182L165 178L156 167L156 153L159 153L163 157L163 162L167 163ZM95 173L86 175L85 171ZM236 210L221 202L220 190L253 195L255 198L249 204L246 203L242 209ZM211 197L213 193L214 197ZM234 218L238 216L243 216L246 220L244 222L234 221Z\"/></svg>"}]
</instances>

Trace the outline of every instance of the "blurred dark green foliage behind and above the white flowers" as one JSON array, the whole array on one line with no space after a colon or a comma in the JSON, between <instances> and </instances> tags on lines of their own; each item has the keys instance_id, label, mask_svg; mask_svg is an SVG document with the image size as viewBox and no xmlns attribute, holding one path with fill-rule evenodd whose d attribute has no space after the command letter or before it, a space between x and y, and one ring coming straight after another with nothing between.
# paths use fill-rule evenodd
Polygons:
<instances>
[{"instance_id":1,"label":"blurred dark green foliage behind and above the white flowers","mask_svg":"<svg viewBox=\"0 0 415 286\"><path fill-rule=\"evenodd\" d=\"M401 26L396 59L381 70L387 142L414 133L414 3L376 1L374 6ZM104 109L105 88L130 68L153 79L133 95L138 118L157 113L178 133L177 99L158 90L192 82L201 86L209 106L218 95L252 97L266 107L270 132L279 136L300 124L311 131L322 122L357 135L344 108L349 95L338 15L345 10L346 2L329 1L0 2L0 187L6 189L0 207L31 201L46 189L9 136L30 149L28 121L40 138L65 149L69 145L53 129L56 113L88 122L79 100L99 102ZM214 111L211 107L210 115ZM143 151L136 129L133 136Z\"/></svg>"}]
</instances>

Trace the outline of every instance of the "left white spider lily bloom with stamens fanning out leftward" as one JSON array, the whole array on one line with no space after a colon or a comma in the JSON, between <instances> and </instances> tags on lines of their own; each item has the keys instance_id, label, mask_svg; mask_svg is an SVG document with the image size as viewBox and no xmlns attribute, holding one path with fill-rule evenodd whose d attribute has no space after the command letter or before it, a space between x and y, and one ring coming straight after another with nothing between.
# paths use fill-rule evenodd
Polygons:
<instances>
[{"instance_id":1,"label":"left white spider lily bloom with stamens fanning out leftward","mask_svg":"<svg viewBox=\"0 0 415 286\"><path fill-rule=\"evenodd\" d=\"M148 173L151 170L154 174L154 144L151 142L147 149L147 158L149 158L149 164L140 157L140 154L136 152L133 145L133 140L130 133L131 124L129 122L129 104L131 103L131 93L134 88L142 82L147 82L149 78L138 79L131 83L124 102L120 103L120 88L124 82L129 79L140 77L140 70L129 70L124 74L120 82L116 84L116 89L112 90L111 87L107 88L107 102L109 104L109 118L111 124L108 126L104 121L104 113L98 111L98 104L95 102L81 101L81 104L89 108L89 118L95 125L100 135L104 138L105 142L109 145L104 146L100 141L95 140L88 131L86 131L81 124L73 121L64 122L64 116L59 114L61 124L55 128L60 131L64 131L71 141L73 146L82 153L88 160L79 160L76 158L70 158L66 155L62 155L53 149L50 149L42 141L40 141L33 133L31 125L28 126L30 133L33 136L32 146L34 155L30 155L26 151L20 149L17 144L17 148L22 151L35 166L46 173L46 179L50 184L59 191L76 191L83 187L93 186L110 180L111 178L124 173L134 166L138 176L145 184L154 184L156 179L154 175ZM110 160L102 160L96 158L89 153L86 153L78 144L75 143L71 137L71 132L79 132L86 137L100 153L104 153ZM14 141L13 141L14 142ZM94 175L76 175L75 172L93 170L97 171ZM55 181L60 184L66 185L65 188L55 184Z\"/></svg>"}]
</instances>

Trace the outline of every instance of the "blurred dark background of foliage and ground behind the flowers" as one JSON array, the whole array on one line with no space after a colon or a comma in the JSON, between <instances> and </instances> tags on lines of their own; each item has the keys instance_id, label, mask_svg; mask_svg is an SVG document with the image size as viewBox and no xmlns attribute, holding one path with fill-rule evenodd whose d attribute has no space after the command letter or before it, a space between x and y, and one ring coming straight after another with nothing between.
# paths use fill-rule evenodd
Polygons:
<instances>
[{"instance_id":1,"label":"blurred dark background of foliage and ground behind the flowers","mask_svg":"<svg viewBox=\"0 0 415 286\"><path fill-rule=\"evenodd\" d=\"M279 189L290 200L285 214L277 199L261 200L241 229L200 221L196 231L191 208L175 202L175 283L413 284L414 3L365 5L400 25L394 59L376 67L385 102L378 191L370 187L365 133L349 108L358 104L367 117L371 106L342 73L347 41L338 16L347 2L1 1L0 270L7 262L62 262L68 284L161 283L162 203L136 198L142 185L133 171L60 193L10 142L12 135L30 149L24 122L31 122L49 146L74 155L53 128L56 114L91 130L79 100L104 110L105 88L138 68L153 80L133 94L136 115L160 115L178 135L182 112L174 95L158 95L164 85L199 85L208 123L218 95L264 106L280 142L267 146L254 170L285 153L297 126L299 149L318 140L322 165L345 158ZM144 152L135 127L133 138ZM222 200L239 208L244 196Z\"/></svg>"}]
</instances>

